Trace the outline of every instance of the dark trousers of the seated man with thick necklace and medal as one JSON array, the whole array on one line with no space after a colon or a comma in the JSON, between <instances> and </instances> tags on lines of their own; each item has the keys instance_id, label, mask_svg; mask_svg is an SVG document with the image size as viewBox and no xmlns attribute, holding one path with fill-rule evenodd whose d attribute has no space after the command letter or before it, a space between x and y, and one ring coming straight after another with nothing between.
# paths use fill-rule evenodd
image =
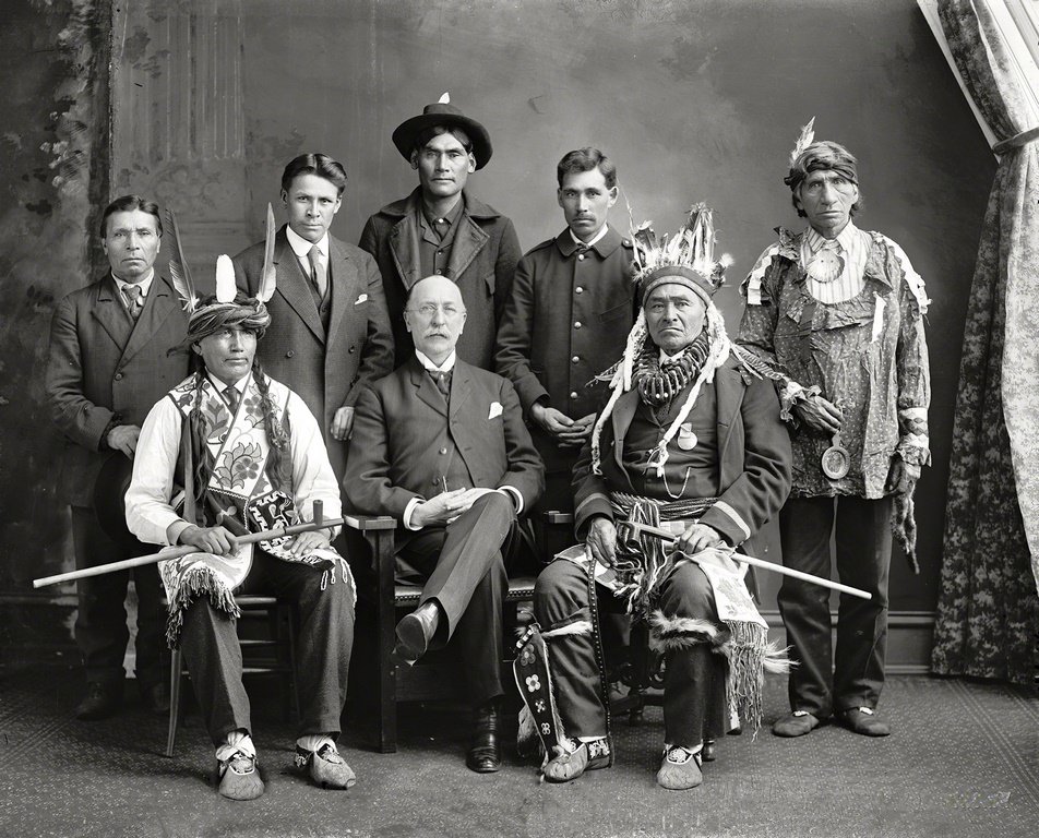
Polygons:
<instances>
[{"instance_id":1,"label":"dark trousers of the seated man with thick necklace and medal","mask_svg":"<svg viewBox=\"0 0 1039 838\"><path fill-rule=\"evenodd\" d=\"M620 600L596 587L599 607L617 611ZM534 615L542 631L588 619L588 577L573 562L558 560L538 576L534 589ZM715 625L718 614L710 583L693 563L676 568L661 585L657 603L665 618L706 620ZM599 695L599 670L594 638L565 634L548 641L556 702L563 729L570 737L606 735L606 708ZM664 726L668 744L696 747L704 737L722 731L725 659L703 642L690 642L666 650Z\"/></svg>"}]
</instances>

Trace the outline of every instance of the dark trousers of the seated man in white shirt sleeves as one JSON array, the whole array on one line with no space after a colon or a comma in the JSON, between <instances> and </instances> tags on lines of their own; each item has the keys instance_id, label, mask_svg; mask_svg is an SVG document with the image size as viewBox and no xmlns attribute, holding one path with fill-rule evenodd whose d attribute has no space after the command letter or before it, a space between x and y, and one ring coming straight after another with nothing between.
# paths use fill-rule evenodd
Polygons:
<instances>
[{"instance_id":1,"label":"dark trousers of the seated man in white shirt sleeves","mask_svg":"<svg viewBox=\"0 0 1039 838\"><path fill-rule=\"evenodd\" d=\"M253 551L252 568L240 590L275 595L296 603L297 735L339 733L354 648L354 589L341 577L321 589L321 571ZM215 745L232 730L251 733L249 696L242 685L237 620L199 597L184 611L180 635L188 672Z\"/></svg>"}]
</instances>

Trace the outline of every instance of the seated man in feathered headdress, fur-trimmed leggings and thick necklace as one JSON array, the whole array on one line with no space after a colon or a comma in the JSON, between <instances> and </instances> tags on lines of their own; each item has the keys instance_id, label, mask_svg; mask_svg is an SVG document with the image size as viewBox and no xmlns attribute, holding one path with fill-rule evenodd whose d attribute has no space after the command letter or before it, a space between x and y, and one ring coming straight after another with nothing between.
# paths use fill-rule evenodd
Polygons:
<instances>
[{"instance_id":1,"label":"seated man in feathered headdress, fur-trimmed leggings and thick necklace","mask_svg":"<svg viewBox=\"0 0 1039 838\"><path fill-rule=\"evenodd\" d=\"M694 207L680 237L688 249L656 248L652 231L636 236L642 312L574 468L576 531L586 544L538 577L537 622L516 662L553 781L611 763L590 574L648 620L650 645L665 655L664 788L702 782L705 737L722 732L731 710L759 723L762 669L781 667L729 556L786 499L790 442L772 382L745 369L710 301L724 266L713 262L709 210ZM618 519L670 525L673 552L647 535L619 537ZM538 659L551 681L539 677Z\"/></svg>"}]
</instances>

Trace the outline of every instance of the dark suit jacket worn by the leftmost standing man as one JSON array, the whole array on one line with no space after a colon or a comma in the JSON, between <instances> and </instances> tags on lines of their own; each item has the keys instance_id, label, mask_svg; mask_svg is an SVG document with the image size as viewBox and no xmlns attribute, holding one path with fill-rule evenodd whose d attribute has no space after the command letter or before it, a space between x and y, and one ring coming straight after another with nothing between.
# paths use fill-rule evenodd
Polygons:
<instances>
[{"instance_id":1,"label":"dark suit jacket worn by the leftmost standing man","mask_svg":"<svg viewBox=\"0 0 1039 838\"><path fill-rule=\"evenodd\" d=\"M55 309L47 400L65 438L58 499L91 506L97 472L111 456L106 429L144 423L152 406L188 374L188 316L158 273L133 323L111 274L65 296Z\"/></svg>"}]
</instances>

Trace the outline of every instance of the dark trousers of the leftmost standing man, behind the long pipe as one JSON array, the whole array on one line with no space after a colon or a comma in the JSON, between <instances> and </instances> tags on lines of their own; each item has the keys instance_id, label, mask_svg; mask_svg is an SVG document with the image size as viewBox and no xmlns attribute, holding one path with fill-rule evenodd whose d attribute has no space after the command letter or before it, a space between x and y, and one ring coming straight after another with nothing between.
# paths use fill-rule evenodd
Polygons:
<instances>
[{"instance_id":1,"label":"dark trousers of the leftmost standing man, behind the long pipe","mask_svg":"<svg viewBox=\"0 0 1039 838\"><path fill-rule=\"evenodd\" d=\"M79 570L154 553L154 544L142 544L128 536L118 543L101 529L94 510L72 507L72 541ZM154 564L79 579L75 584L79 611L75 642L83 656L87 681L122 683L122 660L130 630L127 627L127 586L133 574L138 592L136 677L142 689L163 683L167 678L166 608L163 583Z\"/></svg>"}]
</instances>

